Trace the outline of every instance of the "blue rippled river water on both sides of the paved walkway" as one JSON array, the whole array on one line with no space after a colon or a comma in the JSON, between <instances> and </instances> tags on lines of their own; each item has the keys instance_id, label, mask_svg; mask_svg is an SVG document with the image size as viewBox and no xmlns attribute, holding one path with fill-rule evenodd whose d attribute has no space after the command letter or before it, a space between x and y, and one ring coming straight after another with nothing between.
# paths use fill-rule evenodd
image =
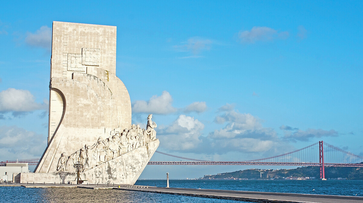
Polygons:
<instances>
[{"instance_id":1,"label":"blue rippled river water on both sides of the paved walkway","mask_svg":"<svg viewBox=\"0 0 363 203\"><path fill-rule=\"evenodd\" d=\"M138 180L136 185L165 187L166 180ZM348 180L170 180L170 187L291 192L303 194L363 196L363 181ZM232 200L195 198L123 190L90 190L85 188L25 188L0 187L0 202L44 203L237 203Z\"/></svg>"}]
</instances>

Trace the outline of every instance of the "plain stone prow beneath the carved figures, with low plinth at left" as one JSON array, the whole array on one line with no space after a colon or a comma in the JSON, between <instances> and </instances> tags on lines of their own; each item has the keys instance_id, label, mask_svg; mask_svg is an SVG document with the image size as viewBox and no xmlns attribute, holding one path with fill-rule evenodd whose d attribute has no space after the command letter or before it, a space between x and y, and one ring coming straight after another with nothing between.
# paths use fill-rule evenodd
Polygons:
<instances>
[{"instance_id":1,"label":"plain stone prow beneath the carved figures, with low plinth at left","mask_svg":"<svg viewBox=\"0 0 363 203\"><path fill-rule=\"evenodd\" d=\"M133 185L159 146L159 140L147 143L130 152L106 161L79 174L90 184ZM68 183L77 180L77 173L21 173L21 183Z\"/></svg>"}]
</instances>

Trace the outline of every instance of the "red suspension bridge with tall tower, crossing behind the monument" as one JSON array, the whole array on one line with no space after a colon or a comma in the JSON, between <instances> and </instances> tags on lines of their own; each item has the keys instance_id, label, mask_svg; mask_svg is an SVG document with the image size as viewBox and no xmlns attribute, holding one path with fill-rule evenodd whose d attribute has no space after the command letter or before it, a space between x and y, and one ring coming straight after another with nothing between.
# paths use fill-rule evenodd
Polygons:
<instances>
[{"instance_id":1,"label":"red suspension bridge with tall tower, crossing behind the monument","mask_svg":"<svg viewBox=\"0 0 363 203\"><path fill-rule=\"evenodd\" d=\"M39 159L2 161L5 163L28 163L37 165ZM175 156L156 151L149 165L273 165L273 166L319 166L320 178L325 178L324 166L363 167L363 157L347 152L323 141L278 156L246 161L210 161Z\"/></svg>"}]
</instances>

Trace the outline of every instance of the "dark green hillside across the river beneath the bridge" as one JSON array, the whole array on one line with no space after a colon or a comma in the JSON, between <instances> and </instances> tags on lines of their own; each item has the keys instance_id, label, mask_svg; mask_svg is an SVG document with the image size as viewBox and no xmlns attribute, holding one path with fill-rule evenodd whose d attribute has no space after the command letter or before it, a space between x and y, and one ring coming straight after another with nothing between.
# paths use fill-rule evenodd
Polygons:
<instances>
[{"instance_id":1,"label":"dark green hillside across the river beneath the bridge","mask_svg":"<svg viewBox=\"0 0 363 203\"><path fill-rule=\"evenodd\" d=\"M362 162L363 163L363 162ZM363 168L359 167L324 167L326 179L346 178L348 180L363 180ZM262 172L262 174L261 174ZM260 177L261 175L261 177ZM217 175L204 175L201 179L289 179L288 177L320 178L320 167L307 166L297 169L247 169Z\"/></svg>"}]
</instances>

